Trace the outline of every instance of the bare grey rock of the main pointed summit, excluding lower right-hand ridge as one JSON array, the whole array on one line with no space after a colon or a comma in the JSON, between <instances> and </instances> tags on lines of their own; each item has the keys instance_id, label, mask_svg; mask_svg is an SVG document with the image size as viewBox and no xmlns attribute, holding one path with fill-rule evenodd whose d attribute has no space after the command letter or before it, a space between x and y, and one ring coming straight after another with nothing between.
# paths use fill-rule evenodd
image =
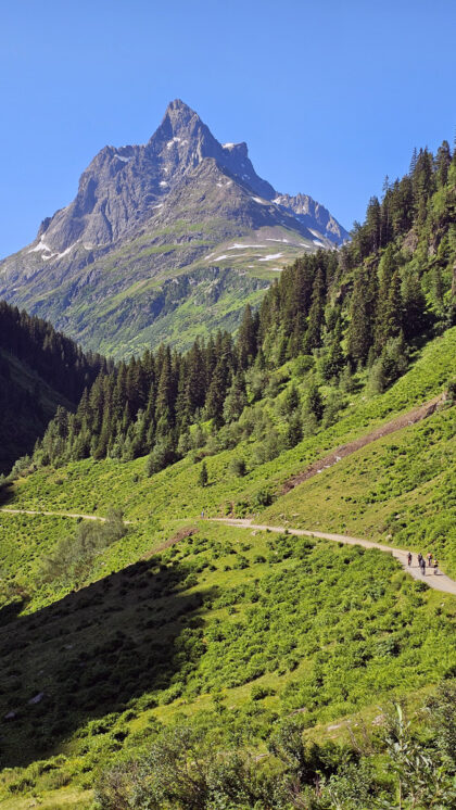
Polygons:
<instances>
[{"instance_id":1,"label":"bare grey rock of the main pointed summit, excluding lower right-hand ridge","mask_svg":"<svg viewBox=\"0 0 456 810\"><path fill-rule=\"evenodd\" d=\"M255 173L245 143L224 147L182 101L173 101L144 147L104 147L79 180L76 199L42 224L39 236L50 252L81 240L87 249L116 242L153 215L189 172L214 159L257 194L275 191Z\"/></svg>"}]
</instances>

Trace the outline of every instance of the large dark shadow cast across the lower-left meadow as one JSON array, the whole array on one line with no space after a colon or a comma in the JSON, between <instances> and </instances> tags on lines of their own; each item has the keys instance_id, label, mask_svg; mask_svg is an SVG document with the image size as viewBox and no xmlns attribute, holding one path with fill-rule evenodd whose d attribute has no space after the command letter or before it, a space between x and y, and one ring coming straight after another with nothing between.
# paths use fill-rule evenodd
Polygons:
<instances>
[{"instance_id":1,"label":"large dark shadow cast across the lower-left meadow","mask_svg":"<svg viewBox=\"0 0 456 810\"><path fill-rule=\"evenodd\" d=\"M186 592L188 573L152 558L29 616L17 616L21 603L1 611L3 767L43 759L87 721L186 680L212 596Z\"/></svg>"}]
</instances>

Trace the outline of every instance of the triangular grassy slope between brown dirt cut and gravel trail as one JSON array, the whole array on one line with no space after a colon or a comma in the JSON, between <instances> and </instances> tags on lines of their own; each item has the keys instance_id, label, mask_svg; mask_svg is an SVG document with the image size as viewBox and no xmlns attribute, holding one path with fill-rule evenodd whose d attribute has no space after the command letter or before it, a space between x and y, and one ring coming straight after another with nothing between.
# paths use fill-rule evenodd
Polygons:
<instances>
[{"instance_id":1,"label":"triangular grassy slope between brown dirt cut and gravel trail","mask_svg":"<svg viewBox=\"0 0 456 810\"><path fill-rule=\"evenodd\" d=\"M443 409L305 481L262 520L431 550L456 578L455 434L456 408Z\"/></svg>"}]
</instances>

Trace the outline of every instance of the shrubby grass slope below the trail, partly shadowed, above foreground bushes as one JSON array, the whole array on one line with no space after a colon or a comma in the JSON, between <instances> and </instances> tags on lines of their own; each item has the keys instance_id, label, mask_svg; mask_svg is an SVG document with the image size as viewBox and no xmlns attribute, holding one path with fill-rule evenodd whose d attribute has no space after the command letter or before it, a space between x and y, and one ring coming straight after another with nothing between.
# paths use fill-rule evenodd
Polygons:
<instances>
[{"instance_id":1,"label":"shrubby grass slope below the trail, partly shadowed, above foreground bushes","mask_svg":"<svg viewBox=\"0 0 456 810\"><path fill-rule=\"evenodd\" d=\"M380 552L322 541L205 524L161 558L48 602L0 629L1 717L16 712L4 797L85 789L157 721L190 716L261 747L277 716L302 710L306 727L327 726L456 667L452 597Z\"/></svg>"}]
</instances>

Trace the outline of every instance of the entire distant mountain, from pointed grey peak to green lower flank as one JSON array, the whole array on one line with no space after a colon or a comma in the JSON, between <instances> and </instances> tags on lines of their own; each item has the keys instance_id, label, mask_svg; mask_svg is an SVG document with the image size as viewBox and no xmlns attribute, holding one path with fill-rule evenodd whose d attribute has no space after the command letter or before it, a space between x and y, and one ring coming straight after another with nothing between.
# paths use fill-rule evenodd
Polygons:
<instances>
[{"instance_id":1,"label":"entire distant mountain, from pointed grey peak to green lower flank","mask_svg":"<svg viewBox=\"0 0 456 810\"><path fill-rule=\"evenodd\" d=\"M203 327L233 328L245 301L286 263L347 236L312 198L279 194L255 173L245 143L220 144L176 100L147 144L99 152L75 200L0 263L0 295L87 347L128 354L159 338L183 345L194 332L190 314L178 339L176 318L167 332L157 321L197 292L198 306L214 279L224 278L221 299L236 289L238 302L228 313L217 300L215 322L206 309ZM182 298L169 300L169 282L187 290ZM201 313L195 318L201 326Z\"/></svg>"}]
</instances>

